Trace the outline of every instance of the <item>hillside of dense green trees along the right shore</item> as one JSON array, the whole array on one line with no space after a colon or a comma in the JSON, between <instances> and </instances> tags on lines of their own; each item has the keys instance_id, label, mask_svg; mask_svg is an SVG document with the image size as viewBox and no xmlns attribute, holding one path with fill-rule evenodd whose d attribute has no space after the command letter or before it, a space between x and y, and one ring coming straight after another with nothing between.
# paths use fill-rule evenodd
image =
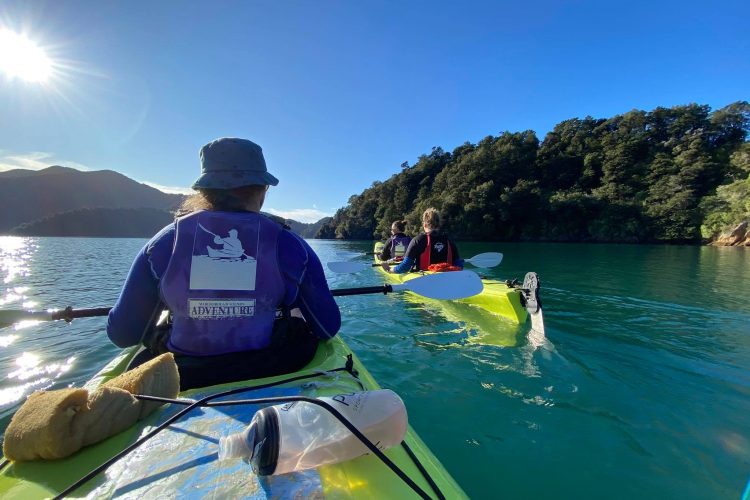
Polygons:
<instances>
[{"instance_id":1,"label":"hillside of dense green trees along the right shore","mask_svg":"<svg viewBox=\"0 0 750 500\"><path fill-rule=\"evenodd\" d=\"M463 240L694 242L750 218L750 105L690 104L439 147L352 196L318 237L382 238L439 208Z\"/></svg>"}]
</instances>

